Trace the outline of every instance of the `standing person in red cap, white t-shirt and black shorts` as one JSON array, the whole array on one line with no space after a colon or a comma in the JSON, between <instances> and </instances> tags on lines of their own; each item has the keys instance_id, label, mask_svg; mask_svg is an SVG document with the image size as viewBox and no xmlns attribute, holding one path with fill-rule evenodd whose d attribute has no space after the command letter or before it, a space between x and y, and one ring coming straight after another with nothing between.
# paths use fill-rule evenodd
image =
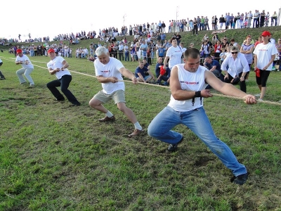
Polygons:
<instances>
[{"instance_id":1,"label":"standing person in red cap, white t-shirt and black shorts","mask_svg":"<svg viewBox=\"0 0 281 211\"><path fill-rule=\"evenodd\" d=\"M276 46L270 43L270 32L264 31L262 34L263 43L257 44L254 49L254 71L259 70L259 75L256 75L256 84L258 84L260 94L259 101L263 101L263 96L266 94L266 82L273 67L273 60L278 53Z\"/></svg>"}]
</instances>

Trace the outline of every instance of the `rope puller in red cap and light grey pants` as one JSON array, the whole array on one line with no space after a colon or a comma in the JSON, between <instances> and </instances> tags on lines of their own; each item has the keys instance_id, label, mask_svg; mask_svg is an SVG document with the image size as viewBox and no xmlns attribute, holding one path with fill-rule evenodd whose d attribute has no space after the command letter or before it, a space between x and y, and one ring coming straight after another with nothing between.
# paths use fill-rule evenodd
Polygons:
<instances>
[{"instance_id":1,"label":"rope puller in red cap and light grey pants","mask_svg":"<svg viewBox=\"0 0 281 211\"><path fill-rule=\"evenodd\" d=\"M15 64L22 65L22 68L16 72L18 79L20 79L20 84L26 83L26 80L23 77L23 75L25 75L27 80L30 82L30 87L34 87L33 79L30 76L30 73L34 70L34 66L31 63L30 58L22 53L22 49L17 49L16 52L18 53L18 56L15 58Z\"/></svg>"}]
</instances>

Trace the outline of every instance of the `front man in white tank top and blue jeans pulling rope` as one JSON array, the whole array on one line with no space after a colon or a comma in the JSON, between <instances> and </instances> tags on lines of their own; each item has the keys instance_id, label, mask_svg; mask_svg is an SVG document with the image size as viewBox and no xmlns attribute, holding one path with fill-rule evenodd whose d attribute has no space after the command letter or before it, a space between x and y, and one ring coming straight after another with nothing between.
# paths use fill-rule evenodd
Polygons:
<instances>
[{"instance_id":1,"label":"front man in white tank top and blue jeans pulling rope","mask_svg":"<svg viewBox=\"0 0 281 211\"><path fill-rule=\"evenodd\" d=\"M192 130L210 150L230 169L235 184L244 184L248 173L240 164L230 148L216 137L203 108L203 98L213 95L207 84L228 96L242 98L245 103L256 103L256 98L221 82L207 68L200 66L200 51L190 48L185 51L184 63L175 65L171 70L171 100L148 126L148 134L155 139L169 143L168 151L174 152L178 143L183 141L183 134L171 130L178 124L184 124Z\"/></svg>"}]
</instances>

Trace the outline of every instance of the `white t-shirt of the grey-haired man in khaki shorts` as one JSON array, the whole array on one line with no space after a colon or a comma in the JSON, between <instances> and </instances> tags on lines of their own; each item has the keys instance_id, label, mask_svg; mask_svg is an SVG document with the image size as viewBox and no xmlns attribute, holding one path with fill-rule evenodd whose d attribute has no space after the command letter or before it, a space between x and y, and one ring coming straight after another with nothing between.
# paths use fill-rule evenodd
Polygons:
<instances>
[{"instance_id":1,"label":"white t-shirt of the grey-haired man in khaki shorts","mask_svg":"<svg viewBox=\"0 0 281 211\"><path fill-rule=\"evenodd\" d=\"M96 59L93 62L95 66L96 76L103 76L103 77L117 77L119 80L123 80L121 72L119 70L124 68L124 65L121 61L117 60L116 58L110 57L110 61L107 64L100 63L100 60ZM124 82L108 82L102 83L103 93L104 94L112 94L113 92L122 89L125 91L125 84Z\"/></svg>"}]
</instances>

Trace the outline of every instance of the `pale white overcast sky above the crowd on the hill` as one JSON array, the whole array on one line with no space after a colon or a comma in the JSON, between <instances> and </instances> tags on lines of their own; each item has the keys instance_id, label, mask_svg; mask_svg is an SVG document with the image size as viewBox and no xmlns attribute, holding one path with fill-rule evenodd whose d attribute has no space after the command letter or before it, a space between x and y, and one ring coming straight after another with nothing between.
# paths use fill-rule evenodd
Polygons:
<instances>
[{"instance_id":1,"label":"pale white overcast sky above the crowd on the hill","mask_svg":"<svg viewBox=\"0 0 281 211\"><path fill-rule=\"evenodd\" d=\"M254 13L255 10L265 10L271 16L274 11L278 14L281 8L279 0L259 6L244 0L229 1L228 6L226 3L214 4L210 0L200 0L198 3L195 1L196 4L191 3L192 1L167 2L169 3L107 0L103 4L103 1L14 0L13 8L11 2L4 0L1 2L0 38L18 39L18 34L21 34L21 39L24 40L28 39L30 33L33 39L49 36L53 40L58 34L76 34L81 30L86 33L95 30L98 34L99 29L106 27L117 27L120 32L122 25L129 28L129 25L159 23L159 20L164 21L168 32L169 20L173 19L193 19L198 15L207 15L211 20L213 15L219 18L226 13L236 15L237 12ZM210 21L209 26L211 27Z\"/></svg>"}]
</instances>

